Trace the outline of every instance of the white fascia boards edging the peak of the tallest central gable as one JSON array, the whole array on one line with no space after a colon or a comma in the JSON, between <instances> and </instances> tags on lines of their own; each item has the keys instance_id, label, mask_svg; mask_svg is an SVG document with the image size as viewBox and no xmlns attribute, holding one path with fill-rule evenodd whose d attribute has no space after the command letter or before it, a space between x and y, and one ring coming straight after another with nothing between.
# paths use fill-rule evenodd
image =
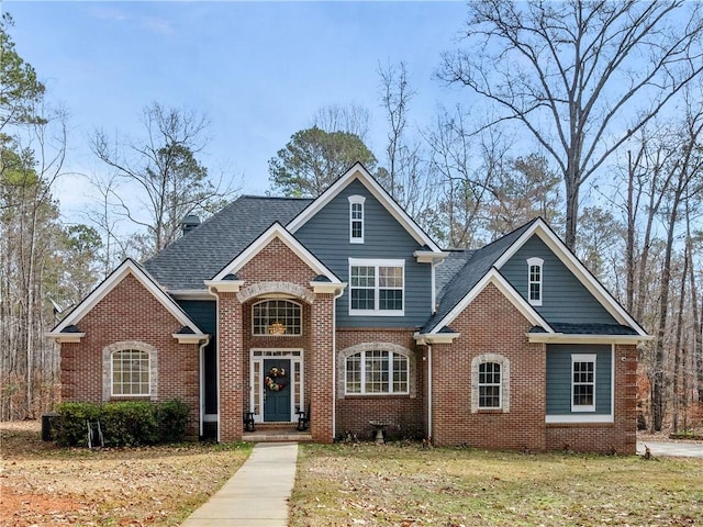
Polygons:
<instances>
[{"instance_id":1,"label":"white fascia boards edging the peak of the tallest central gable","mask_svg":"<svg viewBox=\"0 0 703 527\"><path fill-rule=\"evenodd\" d=\"M408 215L405 211L393 200L393 198L373 179L364 165L356 162L344 176L337 179L327 190L313 201L302 213L293 218L287 228L291 233L295 233L308 221L314 216L321 209L330 203L343 189L345 189L354 179L358 179L369 192L376 198L400 223L405 231L420 245L426 245L433 253L442 253L439 247L432 240L425 232Z\"/></svg>"}]
</instances>

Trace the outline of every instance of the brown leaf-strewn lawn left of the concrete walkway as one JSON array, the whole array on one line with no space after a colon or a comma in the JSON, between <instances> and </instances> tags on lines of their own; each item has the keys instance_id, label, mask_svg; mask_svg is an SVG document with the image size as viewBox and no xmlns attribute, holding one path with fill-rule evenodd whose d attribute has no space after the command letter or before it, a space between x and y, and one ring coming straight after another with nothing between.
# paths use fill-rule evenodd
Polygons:
<instances>
[{"instance_id":1,"label":"brown leaf-strewn lawn left of the concrete walkway","mask_svg":"<svg viewBox=\"0 0 703 527\"><path fill-rule=\"evenodd\" d=\"M59 449L0 423L0 526L175 526L236 472L246 445Z\"/></svg>"}]
</instances>

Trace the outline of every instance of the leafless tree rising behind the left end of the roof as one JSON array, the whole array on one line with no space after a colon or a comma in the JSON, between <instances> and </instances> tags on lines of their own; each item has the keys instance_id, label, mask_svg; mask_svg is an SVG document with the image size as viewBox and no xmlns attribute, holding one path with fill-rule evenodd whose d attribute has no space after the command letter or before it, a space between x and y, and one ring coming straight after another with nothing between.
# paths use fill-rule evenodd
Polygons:
<instances>
[{"instance_id":1,"label":"leafless tree rising behind the left end of the roof","mask_svg":"<svg viewBox=\"0 0 703 527\"><path fill-rule=\"evenodd\" d=\"M222 178L213 182L197 159L207 143L204 116L154 102L144 109L142 124L146 134L138 142L115 138L112 144L104 132L97 131L91 148L131 187L131 192L113 187L110 193L121 213L145 229L138 242L141 256L148 257L180 235L185 216L211 214L234 190Z\"/></svg>"}]
</instances>

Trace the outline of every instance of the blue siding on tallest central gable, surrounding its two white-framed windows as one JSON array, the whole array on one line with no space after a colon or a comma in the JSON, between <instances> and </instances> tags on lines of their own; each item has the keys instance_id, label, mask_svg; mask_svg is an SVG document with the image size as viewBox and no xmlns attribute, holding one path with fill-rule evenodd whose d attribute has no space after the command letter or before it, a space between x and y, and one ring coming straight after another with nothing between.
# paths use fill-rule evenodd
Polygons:
<instances>
[{"instance_id":1,"label":"blue siding on tallest central gable, surrounding its two white-framed windows","mask_svg":"<svg viewBox=\"0 0 703 527\"><path fill-rule=\"evenodd\" d=\"M349 195L364 195L364 244L349 243ZM349 282L349 258L404 259L404 316L349 316L349 287L337 300L341 327L415 327L431 314L429 264L417 264L422 247L358 180L349 183L298 232L295 237L344 282Z\"/></svg>"}]
</instances>

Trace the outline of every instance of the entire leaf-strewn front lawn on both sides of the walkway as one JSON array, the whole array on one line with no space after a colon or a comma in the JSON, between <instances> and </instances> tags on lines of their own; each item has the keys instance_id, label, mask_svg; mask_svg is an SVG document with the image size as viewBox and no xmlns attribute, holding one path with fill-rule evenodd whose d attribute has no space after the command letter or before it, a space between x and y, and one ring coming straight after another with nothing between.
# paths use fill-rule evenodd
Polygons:
<instances>
[{"instance_id":1,"label":"entire leaf-strewn front lawn on both sides of the walkway","mask_svg":"<svg viewBox=\"0 0 703 527\"><path fill-rule=\"evenodd\" d=\"M243 445L58 449L0 424L0 526L177 526ZM301 445L292 527L703 525L703 459Z\"/></svg>"}]
</instances>

